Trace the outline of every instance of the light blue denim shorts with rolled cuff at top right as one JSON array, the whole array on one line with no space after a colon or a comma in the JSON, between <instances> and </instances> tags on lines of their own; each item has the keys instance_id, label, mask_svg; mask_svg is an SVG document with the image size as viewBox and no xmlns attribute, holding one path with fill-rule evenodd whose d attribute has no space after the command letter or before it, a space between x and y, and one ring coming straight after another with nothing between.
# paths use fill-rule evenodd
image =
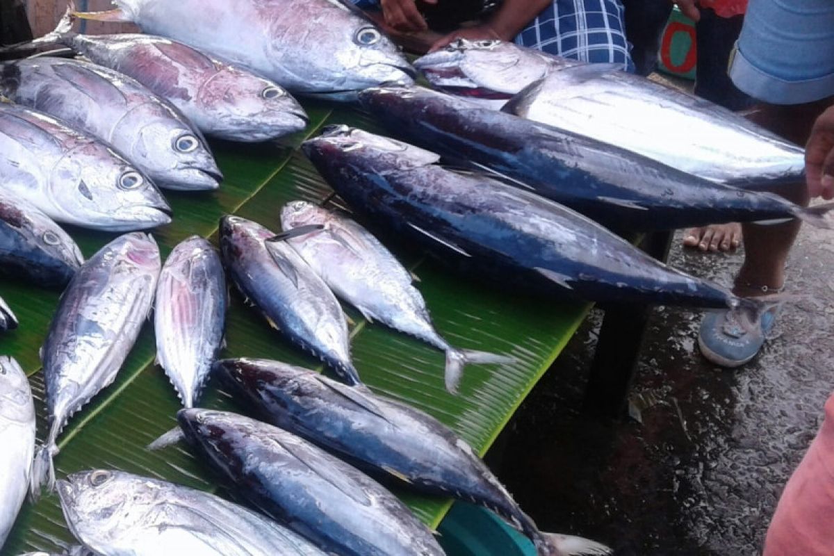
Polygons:
<instances>
[{"instance_id":1,"label":"light blue denim shorts with rolled cuff at top right","mask_svg":"<svg viewBox=\"0 0 834 556\"><path fill-rule=\"evenodd\" d=\"M834 95L834 0L750 0L730 77L771 104Z\"/></svg>"}]
</instances>

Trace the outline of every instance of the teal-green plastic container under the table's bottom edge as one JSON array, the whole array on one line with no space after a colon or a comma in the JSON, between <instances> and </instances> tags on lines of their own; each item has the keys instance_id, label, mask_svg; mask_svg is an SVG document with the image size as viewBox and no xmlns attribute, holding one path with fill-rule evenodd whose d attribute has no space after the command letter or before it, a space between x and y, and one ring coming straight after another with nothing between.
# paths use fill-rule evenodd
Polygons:
<instances>
[{"instance_id":1,"label":"teal-green plastic container under the table's bottom edge","mask_svg":"<svg viewBox=\"0 0 834 556\"><path fill-rule=\"evenodd\" d=\"M455 502L438 528L447 556L536 556L530 539L485 508Z\"/></svg>"}]
</instances>

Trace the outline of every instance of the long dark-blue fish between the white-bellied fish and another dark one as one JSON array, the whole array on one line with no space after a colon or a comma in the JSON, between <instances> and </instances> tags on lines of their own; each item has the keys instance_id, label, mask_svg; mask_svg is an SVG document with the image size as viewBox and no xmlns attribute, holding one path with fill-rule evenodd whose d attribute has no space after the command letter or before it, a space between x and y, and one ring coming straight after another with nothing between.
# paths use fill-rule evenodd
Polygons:
<instances>
[{"instance_id":1,"label":"long dark-blue fish between the white-bellied fish and another dark one","mask_svg":"<svg viewBox=\"0 0 834 556\"><path fill-rule=\"evenodd\" d=\"M830 203L802 208L775 193L714 183L576 133L425 88L369 88L363 107L391 133L617 230L798 218L832 228ZM471 164L470 164L471 166Z\"/></svg>"}]
</instances>

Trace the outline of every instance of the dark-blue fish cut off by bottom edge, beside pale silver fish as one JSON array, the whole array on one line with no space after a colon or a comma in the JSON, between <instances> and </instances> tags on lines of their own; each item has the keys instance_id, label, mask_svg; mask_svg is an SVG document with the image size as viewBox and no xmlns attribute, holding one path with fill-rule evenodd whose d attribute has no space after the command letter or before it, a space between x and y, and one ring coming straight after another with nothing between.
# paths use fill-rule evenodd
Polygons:
<instances>
[{"instance_id":1,"label":"dark-blue fish cut off by bottom edge, beside pale silver fish","mask_svg":"<svg viewBox=\"0 0 834 556\"><path fill-rule=\"evenodd\" d=\"M394 494L306 440L236 413L180 409L177 420L199 458L256 508L324 552L445 554Z\"/></svg>"}]
</instances>

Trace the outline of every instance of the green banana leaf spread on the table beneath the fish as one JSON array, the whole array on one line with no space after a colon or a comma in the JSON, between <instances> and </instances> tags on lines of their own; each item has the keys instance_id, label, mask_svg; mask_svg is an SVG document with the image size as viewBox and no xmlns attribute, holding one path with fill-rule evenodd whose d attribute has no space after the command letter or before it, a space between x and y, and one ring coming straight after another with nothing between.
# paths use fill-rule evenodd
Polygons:
<instances>
[{"instance_id":1,"label":"green banana leaf spread on the table beneath the fish","mask_svg":"<svg viewBox=\"0 0 834 556\"><path fill-rule=\"evenodd\" d=\"M333 192L299 152L305 137L331 123L348 123L380 132L369 118L349 108L305 103L310 124L288 146L214 143L225 181L217 192L168 193L172 224L153 232L163 257L192 234L215 243L219 218L236 213L278 230L281 206L294 199L338 205ZM89 257L114 236L70 229ZM389 243L388 238L382 238ZM390 243L389 243L390 244ZM506 353L516 362L503 366L473 365L466 369L460 394L447 393L443 383L444 355L413 338L364 321L348 309L354 363L364 382L439 418L475 450L484 454L515 409L560 353L579 326L588 306L542 303L514 297L502 288L486 287L455 275L419 251L398 246L400 260L421 280L418 284L441 334L460 348ZM17 313L18 330L0 337L0 353L13 355L27 371L38 408L38 435L46 429L43 375L38 349L58 304L59 293L12 279L0 279L0 295ZM246 307L235 292L227 321L224 357L274 358L309 368L320 363L269 328L264 318ZM180 407L163 370L154 364L153 326L148 323L115 382L70 419L59 438L55 459L58 476L88 468L117 468L164 478L233 496L216 483L203 463L185 447L149 452L145 446L175 426ZM234 402L209 383L203 406L231 408ZM399 493L430 527L436 528L450 507L443 498ZM30 550L54 550L73 543L56 495L24 503L18 522L0 556Z\"/></svg>"}]
</instances>

